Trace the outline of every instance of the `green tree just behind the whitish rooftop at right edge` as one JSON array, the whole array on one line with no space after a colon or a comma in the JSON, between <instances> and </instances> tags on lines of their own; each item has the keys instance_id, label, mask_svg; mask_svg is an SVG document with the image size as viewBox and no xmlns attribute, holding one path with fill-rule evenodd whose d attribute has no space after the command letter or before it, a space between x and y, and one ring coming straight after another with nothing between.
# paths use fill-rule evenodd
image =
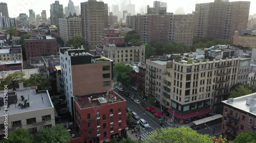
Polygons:
<instances>
[{"instance_id":1,"label":"green tree just behind the whitish rooftop at right edge","mask_svg":"<svg viewBox=\"0 0 256 143\"><path fill-rule=\"evenodd\" d=\"M247 88L245 85L240 85L236 89L231 90L228 98L236 98L236 97L244 96L251 93L252 91L249 88Z\"/></svg>"}]
</instances>

